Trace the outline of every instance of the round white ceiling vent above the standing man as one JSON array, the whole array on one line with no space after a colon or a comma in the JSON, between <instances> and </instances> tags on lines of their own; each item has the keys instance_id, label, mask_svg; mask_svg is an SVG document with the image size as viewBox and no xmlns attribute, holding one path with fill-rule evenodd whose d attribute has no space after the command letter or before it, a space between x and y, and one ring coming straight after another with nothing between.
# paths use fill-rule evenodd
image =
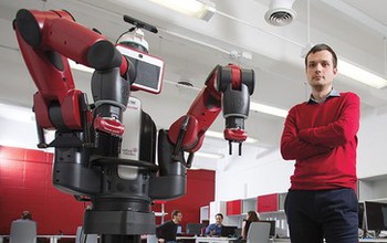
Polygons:
<instances>
[{"instance_id":1,"label":"round white ceiling vent above the standing man","mask_svg":"<svg viewBox=\"0 0 387 243\"><path fill-rule=\"evenodd\" d=\"M295 0L271 0L269 10L264 14L268 23L275 27L284 27L291 23L296 12L292 9Z\"/></svg>"}]
</instances>

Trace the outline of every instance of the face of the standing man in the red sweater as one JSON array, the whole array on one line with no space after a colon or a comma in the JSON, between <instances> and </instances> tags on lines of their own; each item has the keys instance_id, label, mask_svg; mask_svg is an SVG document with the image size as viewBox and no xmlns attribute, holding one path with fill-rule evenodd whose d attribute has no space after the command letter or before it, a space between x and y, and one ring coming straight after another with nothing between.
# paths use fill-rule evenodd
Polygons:
<instances>
[{"instance_id":1,"label":"face of the standing man in the red sweater","mask_svg":"<svg viewBox=\"0 0 387 243\"><path fill-rule=\"evenodd\" d=\"M324 50L307 56L306 77L312 88L332 86L337 68L333 66L332 53Z\"/></svg>"}]
</instances>

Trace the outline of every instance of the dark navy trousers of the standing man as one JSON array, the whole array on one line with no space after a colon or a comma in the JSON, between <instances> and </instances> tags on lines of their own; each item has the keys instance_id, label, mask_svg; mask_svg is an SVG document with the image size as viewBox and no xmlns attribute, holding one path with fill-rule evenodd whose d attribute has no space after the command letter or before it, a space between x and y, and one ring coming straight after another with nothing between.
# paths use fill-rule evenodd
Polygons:
<instances>
[{"instance_id":1,"label":"dark navy trousers of the standing man","mask_svg":"<svg viewBox=\"0 0 387 243\"><path fill-rule=\"evenodd\" d=\"M285 200L292 243L358 242L357 197L353 189L290 190Z\"/></svg>"}]
</instances>

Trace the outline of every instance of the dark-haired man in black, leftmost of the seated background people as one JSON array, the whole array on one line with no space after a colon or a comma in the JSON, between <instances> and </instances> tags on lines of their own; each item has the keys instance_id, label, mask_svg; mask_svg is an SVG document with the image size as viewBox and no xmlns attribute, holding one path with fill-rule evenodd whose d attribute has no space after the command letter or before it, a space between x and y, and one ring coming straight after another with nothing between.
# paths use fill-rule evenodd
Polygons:
<instances>
[{"instance_id":1,"label":"dark-haired man in black, leftmost of the seated background people","mask_svg":"<svg viewBox=\"0 0 387 243\"><path fill-rule=\"evenodd\" d=\"M176 243L177 226L181 222L182 214L179 210L174 210L171 220L157 226L156 236L160 243Z\"/></svg>"}]
</instances>

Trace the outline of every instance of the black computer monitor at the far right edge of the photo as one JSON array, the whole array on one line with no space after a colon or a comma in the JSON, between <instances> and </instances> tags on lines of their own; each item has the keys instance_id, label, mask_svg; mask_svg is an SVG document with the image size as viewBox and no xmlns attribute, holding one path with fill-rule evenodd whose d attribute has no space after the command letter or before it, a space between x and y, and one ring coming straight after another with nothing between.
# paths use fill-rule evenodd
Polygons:
<instances>
[{"instance_id":1,"label":"black computer monitor at the far right edge of the photo","mask_svg":"<svg viewBox=\"0 0 387 243\"><path fill-rule=\"evenodd\" d=\"M364 211L366 218L366 230L387 230L387 203L366 201L364 204Z\"/></svg>"}]
</instances>

